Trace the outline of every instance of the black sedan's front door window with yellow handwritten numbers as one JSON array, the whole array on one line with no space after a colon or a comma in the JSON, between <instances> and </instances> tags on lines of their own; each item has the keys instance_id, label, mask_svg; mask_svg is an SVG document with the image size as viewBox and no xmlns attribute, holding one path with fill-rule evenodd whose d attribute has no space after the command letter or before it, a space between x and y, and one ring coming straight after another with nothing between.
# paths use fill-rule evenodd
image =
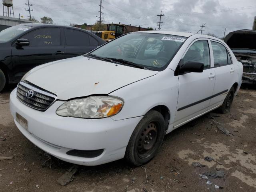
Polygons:
<instances>
[{"instance_id":1,"label":"black sedan's front door window with yellow handwritten numbers","mask_svg":"<svg viewBox=\"0 0 256 192\"><path fill-rule=\"evenodd\" d=\"M28 39L30 46L58 46L60 45L60 29L40 28L28 32L21 38Z\"/></svg>"}]
</instances>

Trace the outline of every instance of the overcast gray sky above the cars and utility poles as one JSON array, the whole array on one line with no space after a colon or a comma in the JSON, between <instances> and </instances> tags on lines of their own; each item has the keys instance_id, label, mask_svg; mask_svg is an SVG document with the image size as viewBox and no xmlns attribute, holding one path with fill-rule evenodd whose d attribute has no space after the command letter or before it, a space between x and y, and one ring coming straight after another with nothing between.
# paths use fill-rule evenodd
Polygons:
<instances>
[{"instance_id":1,"label":"overcast gray sky above the cars and utility poles","mask_svg":"<svg viewBox=\"0 0 256 192\"><path fill-rule=\"evenodd\" d=\"M27 0L13 0L14 15L29 15ZM94 24L99 16L100 0L30 0L31 15L40 21L51 17L55 24ZM131 24L158 28L162 13L161 30L196 33L206 23L203 34L213 33L222 37L239 29L252 29L256 16L256 0L102 0L102 17L105 23ZM227 32L227 33L228 33Z\"/></svg>"}]
</instances>

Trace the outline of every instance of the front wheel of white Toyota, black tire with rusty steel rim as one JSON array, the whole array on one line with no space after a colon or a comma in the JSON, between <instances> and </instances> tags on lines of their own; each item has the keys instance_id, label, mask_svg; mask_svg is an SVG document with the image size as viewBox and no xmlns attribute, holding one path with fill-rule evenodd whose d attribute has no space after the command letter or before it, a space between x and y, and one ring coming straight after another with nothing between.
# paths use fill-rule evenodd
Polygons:
<instances>
[{"instance_id":1,"label":"front wheel of white Toyota, black tire with rusty steel rim","mask_svg":"<svg viewBox=\"0 0 256 192\"><path fill-rule=\"evenodd\" d=\"M150 110L132 132L125 159L135 166L149 162L162 145L164 134L164 117L160 112Z\"/></svg>"}]
</instances>

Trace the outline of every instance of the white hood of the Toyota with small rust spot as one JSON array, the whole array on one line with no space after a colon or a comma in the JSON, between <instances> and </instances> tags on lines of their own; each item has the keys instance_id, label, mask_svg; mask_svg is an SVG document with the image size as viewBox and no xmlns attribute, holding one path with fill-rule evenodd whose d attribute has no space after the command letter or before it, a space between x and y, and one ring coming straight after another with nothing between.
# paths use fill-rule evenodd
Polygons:
<instances>
[{"instance_id":1,"label":"white hood of the Toyota with small rust spot","mask_svg":"<svg viewBox=\"0 0 256 192\"><path fill-rule=\"evenodd\" d=\"M68 100L93 94L109 94L155 74L156 71L78 56L38 66L25 80L56 94L59 100Z\"/></svg>"}]
</instances>

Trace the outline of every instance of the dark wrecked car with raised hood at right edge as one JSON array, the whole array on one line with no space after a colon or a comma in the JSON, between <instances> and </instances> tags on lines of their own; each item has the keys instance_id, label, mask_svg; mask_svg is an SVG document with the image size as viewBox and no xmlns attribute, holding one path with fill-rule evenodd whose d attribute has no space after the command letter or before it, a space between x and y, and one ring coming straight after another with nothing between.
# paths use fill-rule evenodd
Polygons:
<instances>
[{"instance_id":1,"label":"dark wrecked car with raised hood at right edge","mask_svg":"<svg viewBox=\"0 0 256 192\"><path fill-rule=\"evenodd\" d=\"M224 41L244 66L242 82L256 84L256 30L230 32Z\"/></svg>"}]
</instances>

